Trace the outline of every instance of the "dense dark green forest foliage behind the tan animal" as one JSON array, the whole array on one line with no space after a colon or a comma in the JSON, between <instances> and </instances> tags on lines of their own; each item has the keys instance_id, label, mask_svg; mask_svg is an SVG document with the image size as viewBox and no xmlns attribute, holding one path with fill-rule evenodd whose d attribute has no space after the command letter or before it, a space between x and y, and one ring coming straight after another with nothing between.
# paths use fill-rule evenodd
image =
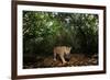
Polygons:
<instances>
[{"instance_id":1,"label":"dense dark green forest foliage behind the tan animal","mask_svg":"<svg viewBox=\"0 0 110 80\"><path fill-rule=\"evenodd\" d=\"M23 11L23 53L52 54L55 46L72 53L98 53L98 15Z\"/></svg>"}]
</instances>

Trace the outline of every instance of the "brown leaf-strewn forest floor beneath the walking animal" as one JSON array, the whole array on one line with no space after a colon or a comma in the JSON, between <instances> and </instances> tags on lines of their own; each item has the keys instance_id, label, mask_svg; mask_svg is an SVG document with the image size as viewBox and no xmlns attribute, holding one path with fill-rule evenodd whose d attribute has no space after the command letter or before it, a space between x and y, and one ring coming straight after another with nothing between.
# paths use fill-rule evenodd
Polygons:
<instances>
[{"instance_id":1,"label":"brown leaf-strewn forest floor beneath the walking animal","mask_svg":"<svg viewBox=\"0 0 110 80\"><path fill-rule=\"evenodd\" d=\"M85 56L84 54L70 54L70 58L67 64L62 64L62 60L57 58L55 61L53 56L41 57L37 56L35 61L23 62L24 69L32 68L52 68L52 67L77 67L77 66L95 66L98 65L98 55L91 57Z\"/></svg>"}]
</instances>

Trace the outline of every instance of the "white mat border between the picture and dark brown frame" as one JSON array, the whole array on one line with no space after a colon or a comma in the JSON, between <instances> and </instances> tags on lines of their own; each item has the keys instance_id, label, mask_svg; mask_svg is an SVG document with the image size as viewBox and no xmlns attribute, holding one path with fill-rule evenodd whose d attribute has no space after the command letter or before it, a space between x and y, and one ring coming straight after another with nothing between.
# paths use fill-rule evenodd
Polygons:
<instances>
[{"instance_id":1,"label":"white mat border between the picture and dark brown frame","mask_svg":"<svg viewBox=\"0 0 110 80\"><path fill-rule=\"evenodd\" d=\"M46 11L46 12L67 12L67 13L92 13L99 15L99 65L84 67L63 67L63 68L37 68L22 69L23 66L23 47L22 47L22 11ZM44 75L44 73L63 73L63 72L81 72L103 70L103 11L95 9L76 9L76 8L55 8L38 5L18 5L18 76L25 75Z\"/></svg>"}]
</instances>

